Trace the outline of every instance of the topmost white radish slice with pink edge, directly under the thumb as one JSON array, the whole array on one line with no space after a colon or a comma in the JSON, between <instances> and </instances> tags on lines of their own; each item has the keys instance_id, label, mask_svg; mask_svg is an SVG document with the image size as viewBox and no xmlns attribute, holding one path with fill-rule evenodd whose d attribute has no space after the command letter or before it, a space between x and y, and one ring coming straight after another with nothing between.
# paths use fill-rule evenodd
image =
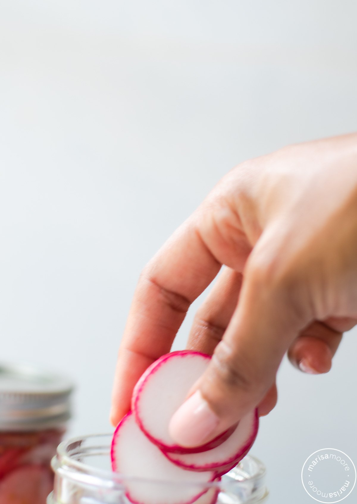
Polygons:
<instances>
[{"instance_id":1,"label":"topmost white radish slice with pink edge, directly under the thumb","mask_svg":"<svg viewBox=\"0 0 357 504\"><path fill-rule=\"evenodd\" d=\"M131 409L136 423L165 452L184 454L211 450L225 442L235 430L232 427L209 443L194 448L177 445L169 434L171 417L185 401L209 361L208 355L189 350L168 353L148 367L134 388Z\"/></svg>"}]
</instances>

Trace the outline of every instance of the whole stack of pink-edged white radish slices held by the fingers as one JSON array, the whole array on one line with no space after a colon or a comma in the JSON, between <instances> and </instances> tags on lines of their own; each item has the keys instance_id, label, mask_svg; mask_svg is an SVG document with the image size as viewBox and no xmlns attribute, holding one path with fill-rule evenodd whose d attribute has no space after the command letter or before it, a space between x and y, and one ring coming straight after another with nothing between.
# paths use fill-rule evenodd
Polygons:
<instances>
[{"instance_id":1,"label":"whole stack of pink-edged white radish slices held by the fingers","mask_svg":"<svg viewBox=\"0 0 357 504\"><path fill-rule=\"evenodd\" d=\"M209 483L250 450L258 431L256 410L200 447L183 448L170 436L171 417L209 360L198 352L172 352L136 384L132 411L117 426L111 449L113 471L127 478L126 496L134 504L213 504L217 487Z\"/></svg>"}]
</instances>

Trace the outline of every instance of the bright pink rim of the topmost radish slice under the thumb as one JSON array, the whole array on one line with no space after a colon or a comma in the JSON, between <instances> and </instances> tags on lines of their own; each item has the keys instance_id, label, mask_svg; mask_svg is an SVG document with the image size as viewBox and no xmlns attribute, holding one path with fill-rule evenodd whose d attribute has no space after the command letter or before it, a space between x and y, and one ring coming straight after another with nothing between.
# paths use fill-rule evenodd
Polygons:
<instances>
[{"instance_id":1,"label":"bright pink rim of the topmost radish slice under the thumb","mask_svg":"<svg viewBox=\"0 0 357 504\"><path fill-rule=\"evenodd\" d=\"M204 357L205 359L211 359L211 357L205 353L202 352L194 352L191 350L177 350L175 352L171 353L166 353L165 355L162 355L159 357L155 362L153 362L147 369L144 371L144 373L141 375L139 378L137 384L134 387L133 390L133 395L132 395L132 401L131 401L131 410L134 414L135 421L137 425L140 427L140 430L144 432L144 434L148 437L148 439L151 440L152 443L154 443L156 446L160 448L160 450L163 450L166 453L177 453L181 455L189 454L189 453L200 453L200 452L206 452L208 450L211 450L213 448L216 448L220 446L222 443L224 443L229 436L232 434L234 428L230 428L219 434L217 437L211 439L208 443L205 443L204 445L193 447L193 448L184 448L180 445L166 445L163 443L161 439L158 439L150 434L150 432L146 429L144 423L141 421L140 415L139 415L139 407L138 407L138 401L139 401L139 396L140 392L142 391L142 388L145 386L147 380L149 379L149 376L153 373L155 373L164 362L166 362L168 359L170 359L173 356L184 356L184 355L200 355L201 357ZM223 438L223 439L222 439Z\"/></svg>"}]
</instances>

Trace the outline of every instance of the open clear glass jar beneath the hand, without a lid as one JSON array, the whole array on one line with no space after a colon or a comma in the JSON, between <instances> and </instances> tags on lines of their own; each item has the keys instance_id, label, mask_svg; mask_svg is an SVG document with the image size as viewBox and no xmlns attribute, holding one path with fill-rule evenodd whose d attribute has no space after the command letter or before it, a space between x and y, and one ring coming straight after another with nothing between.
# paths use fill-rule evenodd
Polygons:
<instances>
[{"instance_id":1,"label":"open clear glass jar beneath the hand, without a lid","mask_svg":"<svg viewBox=\"0 0 357 504\"><path fill-rule=\"evenodd\" d=\"M142 488L160 491L169 488L175 494L177 483L144 478L124 478L110 470L110 434L70 439L61 443L52 460L55 472L54 491L47 504L130 504L125 497L125 485L133 482ZM138 461L140 463L140 461ZM186 483L185 483L186 485ZM245 457L220 482L188 483L197 495L217 489L217 504L260 504L267 498L265 468L254 457Z\"/></svg>"}]
</instances>

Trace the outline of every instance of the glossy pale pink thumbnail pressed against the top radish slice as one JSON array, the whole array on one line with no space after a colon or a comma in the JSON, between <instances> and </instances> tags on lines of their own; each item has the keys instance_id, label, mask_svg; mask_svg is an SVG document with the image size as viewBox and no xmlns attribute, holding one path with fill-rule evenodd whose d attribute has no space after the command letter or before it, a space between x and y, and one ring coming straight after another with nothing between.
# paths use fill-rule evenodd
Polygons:
<instances>
[{"instance_id":1,"label":"glossy pale pink thumbnail pressed against the top radish slice","mask_svg":"<svg viewBox=\"0 0 357 504\"><path fill-rule=\"evenodd\" d=\"M198 390L183 403L170 421L171 437L181 446L202 445L220 423Z\"/></svg>"}]
</instances>

